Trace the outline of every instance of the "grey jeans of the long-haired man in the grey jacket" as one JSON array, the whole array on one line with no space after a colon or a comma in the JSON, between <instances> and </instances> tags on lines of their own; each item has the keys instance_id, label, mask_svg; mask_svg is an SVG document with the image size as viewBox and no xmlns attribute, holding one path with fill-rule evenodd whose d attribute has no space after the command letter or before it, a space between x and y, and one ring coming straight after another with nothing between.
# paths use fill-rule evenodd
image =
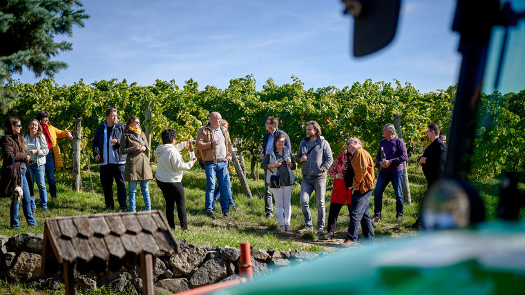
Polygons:
<instances>
[{"instance_id":1,"label":"grey jeans of the long-haired man in the grey jacket","mask_svg":"<svg viewBox=\"0 0 525 295\"><path fill-rule=\"evenodd\" d=\"M301 210L303 210L303 216L305 217L305 224L307 227L313 227L309 201L314 190L316 192L317 201L317 229L321 230L325 228L326 174L311 179L303 175L303 181L300 183L299 203Z\"/></svg>"}]
</instances>

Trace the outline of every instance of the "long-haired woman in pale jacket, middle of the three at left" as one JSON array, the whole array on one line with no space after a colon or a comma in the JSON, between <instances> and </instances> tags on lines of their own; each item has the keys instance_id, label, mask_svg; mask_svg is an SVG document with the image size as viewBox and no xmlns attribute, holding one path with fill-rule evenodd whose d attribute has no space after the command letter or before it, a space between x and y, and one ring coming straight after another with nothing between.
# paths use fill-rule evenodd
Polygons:
<instances>
[{"instance_id":1,"label":"long-haired woman in pale jacket, middle of the three at left","mask_svg":"<svg viewBox=\"0 0 525 295\"><path fill-rule=\"evenodd\" d=\"M28 125L28 133L23 134L23 140L29 155L31 156L32 164L28 166L29 181L32 185L37 180L38 193L40 196L40 207L48 210L48 192L46 192L46 155L49 153L46 136L42 134L42 126L37 119L31 119ZM31 211L35 213L35 196L31 196Z\"/></svg>"}]
</instances>

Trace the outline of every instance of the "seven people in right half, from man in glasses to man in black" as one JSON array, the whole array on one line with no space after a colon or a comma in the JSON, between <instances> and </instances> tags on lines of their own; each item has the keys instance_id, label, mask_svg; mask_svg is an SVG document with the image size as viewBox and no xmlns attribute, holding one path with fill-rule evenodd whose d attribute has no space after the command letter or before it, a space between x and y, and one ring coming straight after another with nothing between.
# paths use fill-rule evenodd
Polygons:
<instances>
[{"instance_id":1,"label":"seven people in right half, from man in glasses to man in black","mask_svg":"<svg viewBox=\"0 0 525 295\"><path fill-rule=\"evenodd\" d=\"M350 224L343 245L354 245L358 238L359 225L363 236L374 240L372 223L381 220L383 193L388 183L392 183L396 196L396 217L403 216L403 163L408 161L408 154L403 139L396 135L394 125L383 126L383 140L379 143L375 161L365 149L361 140L352 137L347 141L347 148L335 160L332 157L330 143L321 136L321 126L316 121L305 124L306 136L300 142L297 155L292 156L289 136L278 129L278 119L268 116L265 122L267 133L262 139L261 167L265 170L265 213L272 218L273 201L280 230L289 231L291 211L291 185L294 183L293 170L296 163L302 164L303 179L300 183L300 207L305 220L305 227L300 232L314 231L309 201L315 191L317 205L317 233L323 239L331 239L336 231L336 221L343 205L348 207ZM440 136L441 135L441 136ZM444 170L446 161L446 136L441 134L439 126L428 125L427 136L432 143L419 160L428 185L434 183ZM441 137L441 139L440 139ZM379 174L374 174L377 163ZM329 174L334 179L330 199L327 232L325 232L325 189ZM369 201L374 191L374 216L368 213Z\"/></svg>"}]
</instances>

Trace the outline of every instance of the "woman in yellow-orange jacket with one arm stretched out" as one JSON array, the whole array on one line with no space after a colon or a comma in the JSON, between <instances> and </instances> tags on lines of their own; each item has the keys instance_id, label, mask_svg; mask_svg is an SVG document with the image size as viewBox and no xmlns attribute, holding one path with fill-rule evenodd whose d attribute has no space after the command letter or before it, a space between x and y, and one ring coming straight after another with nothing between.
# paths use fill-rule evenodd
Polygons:
<instances>
[{"instance_id":1,"label":"woman in yellow-orange jacket with one arm stretched out","mask_svg":"<svg viewBox=\"0 0 525 295\"><path fill-rule=\"evenodd\" d=\"M59 130L49 123L49 113L40 111L37 114L37 120L42 125L42 131L46 136L49 153L46 154L46 176L49 185L49 194L51 198L57 197L57 183L55 182L55 168L64 167L62 157L60 156L60 148L58 146L57 137L60 139L68 138L73 141L73 135L69 130Z\"/></svg>"}]
</instances>

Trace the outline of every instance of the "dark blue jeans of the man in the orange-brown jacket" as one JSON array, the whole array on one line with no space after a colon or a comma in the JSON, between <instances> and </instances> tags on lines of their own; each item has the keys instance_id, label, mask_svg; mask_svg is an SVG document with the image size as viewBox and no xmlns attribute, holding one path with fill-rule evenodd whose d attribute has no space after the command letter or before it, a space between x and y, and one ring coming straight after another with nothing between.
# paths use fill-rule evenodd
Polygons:
<instances>
[{"instance_id":1,"label":"dark blue jeans of the man in the orange-brown jacket","mask_svg":"<svg viewBox=\"0 0 525 295\"><path fill-rule=\"evenodd\" d=\"M368 214L368 202L372 196L372 190L361 194L356 191L352 194L352 203L350 204L350 225L348 225L347 238L351 241L357 241L357 235L359 234L359 223L361 223L361 230L363 230L363 236L369 238L370 241L374 241L374 227L372 227L372 221Z\"/></svg>"}]
</instances>

